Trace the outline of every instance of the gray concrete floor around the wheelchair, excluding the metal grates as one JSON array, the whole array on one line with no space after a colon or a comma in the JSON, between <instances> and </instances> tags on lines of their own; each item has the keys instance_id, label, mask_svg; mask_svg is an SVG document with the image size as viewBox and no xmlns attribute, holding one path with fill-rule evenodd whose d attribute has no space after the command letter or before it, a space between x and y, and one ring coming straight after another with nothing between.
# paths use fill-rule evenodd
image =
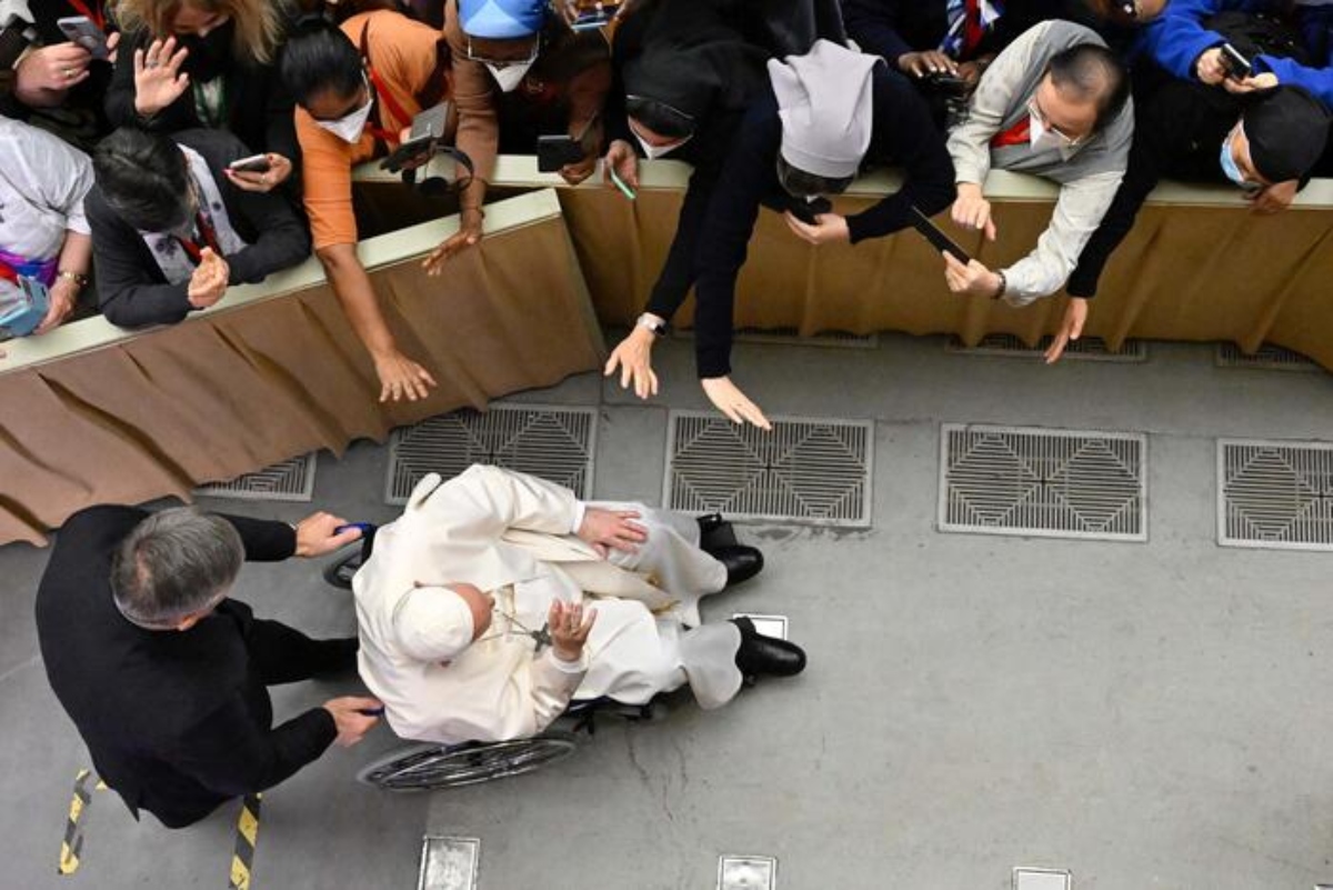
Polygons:
<instances>
[{"instance_id":1,"label":"gray concrete floor around the wheelchair, excluding the metal grates","mask_svg":"<svg viewBox=\"0 0 1333 890\"><path fill-rule=\"evenodd\" d=\"M809 670L718 713L605 725L552 771L451 794L356 785L393 745L380 731L265 797L256 890L408 890L424 833L481 838L481 890L705 890L722 853L777 857L781 890L1002 890L1016 865L1070 869L1078 890L1333 882L1333 556L1217 548L1213 478L1218 436L1333 438L1333 378L1216 369L1206 346L1042 368L909 337L742 346L736 365L770 413L876 421L873 530L746 526L768 569L705 609L785 613ZM666 344L648 406L595 376L525 397L600 405L597 496L657 502L666 406L704 406L690 370L689 344ZM942 421L1148 433L1150 541L938 534ZM323 456L316 506L391 518L385 460ZM88 761L36 654L44 561L0 550L0 887L224 887L233 810L169 833L105 791L81 869L57 878ZM349 632L349 600L316 569L248 566L240 596ZM281 690L279 714L355 686Z\"/></svg>"}]
</instances>

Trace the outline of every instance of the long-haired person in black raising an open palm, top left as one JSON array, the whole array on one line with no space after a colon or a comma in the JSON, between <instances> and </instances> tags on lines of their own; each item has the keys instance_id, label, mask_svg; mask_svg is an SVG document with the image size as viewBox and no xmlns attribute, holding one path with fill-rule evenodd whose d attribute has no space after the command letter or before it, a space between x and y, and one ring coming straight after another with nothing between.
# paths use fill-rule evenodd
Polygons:
<instances>
[{"instance_id":1,"label":"long-haired person in black raising an open palm, top left","mask_svg":"<svg viewBox=\"0 0 1333 890\"><path fill-rule=\"evenodd\" d=\"M268 156L265 172L228 172L237 188L268 192L300 164L292 100L275 60L291 24L285 0L120 0L125 31L107 116L160 133L225 129Z\"/></svg>"}]
</instances>

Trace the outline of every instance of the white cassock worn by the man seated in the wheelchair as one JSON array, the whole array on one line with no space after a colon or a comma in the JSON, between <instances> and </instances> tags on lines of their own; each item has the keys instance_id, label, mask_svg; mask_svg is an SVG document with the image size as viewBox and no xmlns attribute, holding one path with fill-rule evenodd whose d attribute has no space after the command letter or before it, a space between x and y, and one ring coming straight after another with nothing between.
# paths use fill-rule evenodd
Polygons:
<instances>
[{"instance_id":1,"label":"white cassock worn by the man seated in the wheelchair","mask_svg":"<svg viewBox=\"0 0 1333 890\"><path fill-rule=\"evenodd\" d=\"M698 600L726 585L726 568L698 549L692 517L633 509L648 529L637 553L603 560L577 538L584 505L573 492L496 466L472 466L441 482L429 474L403 517L383 526L356 573L360 670L403 738L457 743L535 735L571 698L608 695L643 703L689 683L702 707L737 693L740 630L698 626ZM491 628L448 664L405 650L396 625L413 596L472 584L495 597ZM584 658L535 656L525 630L540 630L557 598L595 602Z\"/></svg>"}]
</instances>

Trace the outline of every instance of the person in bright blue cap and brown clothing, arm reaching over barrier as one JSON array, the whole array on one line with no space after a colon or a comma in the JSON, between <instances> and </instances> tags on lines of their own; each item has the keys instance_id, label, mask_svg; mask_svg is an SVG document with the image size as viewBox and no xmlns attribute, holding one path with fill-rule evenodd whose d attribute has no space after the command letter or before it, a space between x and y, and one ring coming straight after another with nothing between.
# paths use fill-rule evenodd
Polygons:
<instances>
[{"instance_id":1,"label":"person in bright blue cap and brown clothing, arm reaching over barrier","mask_svg":"<svg viewBox=\"0 0 1333 890\"><path fill-rule=\"evenodd\" d=\"M481 205L500 151L531 155L539 135L579 140L583 160L560 175L576 185L601 151L611 52L601 31L575 32L545 0L449 0L444 8L459 148L472 159L461 225L429 257L432 269L481 240Z\"/></svg>"}]
</instances>

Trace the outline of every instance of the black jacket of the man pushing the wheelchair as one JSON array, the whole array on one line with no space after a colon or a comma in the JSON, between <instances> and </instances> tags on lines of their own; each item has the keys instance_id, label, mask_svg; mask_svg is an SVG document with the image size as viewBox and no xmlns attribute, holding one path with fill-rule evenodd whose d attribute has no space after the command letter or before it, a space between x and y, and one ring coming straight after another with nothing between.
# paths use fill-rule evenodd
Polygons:
<instances>
[{"instance_id":1,"label":"black jacket of the man pushing the wheelchair","mask_svg":"<svg viewBox=\"0 0 1333 890\"><path fill-rule=\"evenodd\" d=\"M111 561L148 513L95 506L60 530L37 590L37 638L51 687L129 809L169 827L267 789L336 738L323 707L273 729L273 709L247 649L249 606L224 600L189 630L144 630L116 609ZM291 557L284 522L227 518L245 558Z\"/></svg>"}]
</instances>

